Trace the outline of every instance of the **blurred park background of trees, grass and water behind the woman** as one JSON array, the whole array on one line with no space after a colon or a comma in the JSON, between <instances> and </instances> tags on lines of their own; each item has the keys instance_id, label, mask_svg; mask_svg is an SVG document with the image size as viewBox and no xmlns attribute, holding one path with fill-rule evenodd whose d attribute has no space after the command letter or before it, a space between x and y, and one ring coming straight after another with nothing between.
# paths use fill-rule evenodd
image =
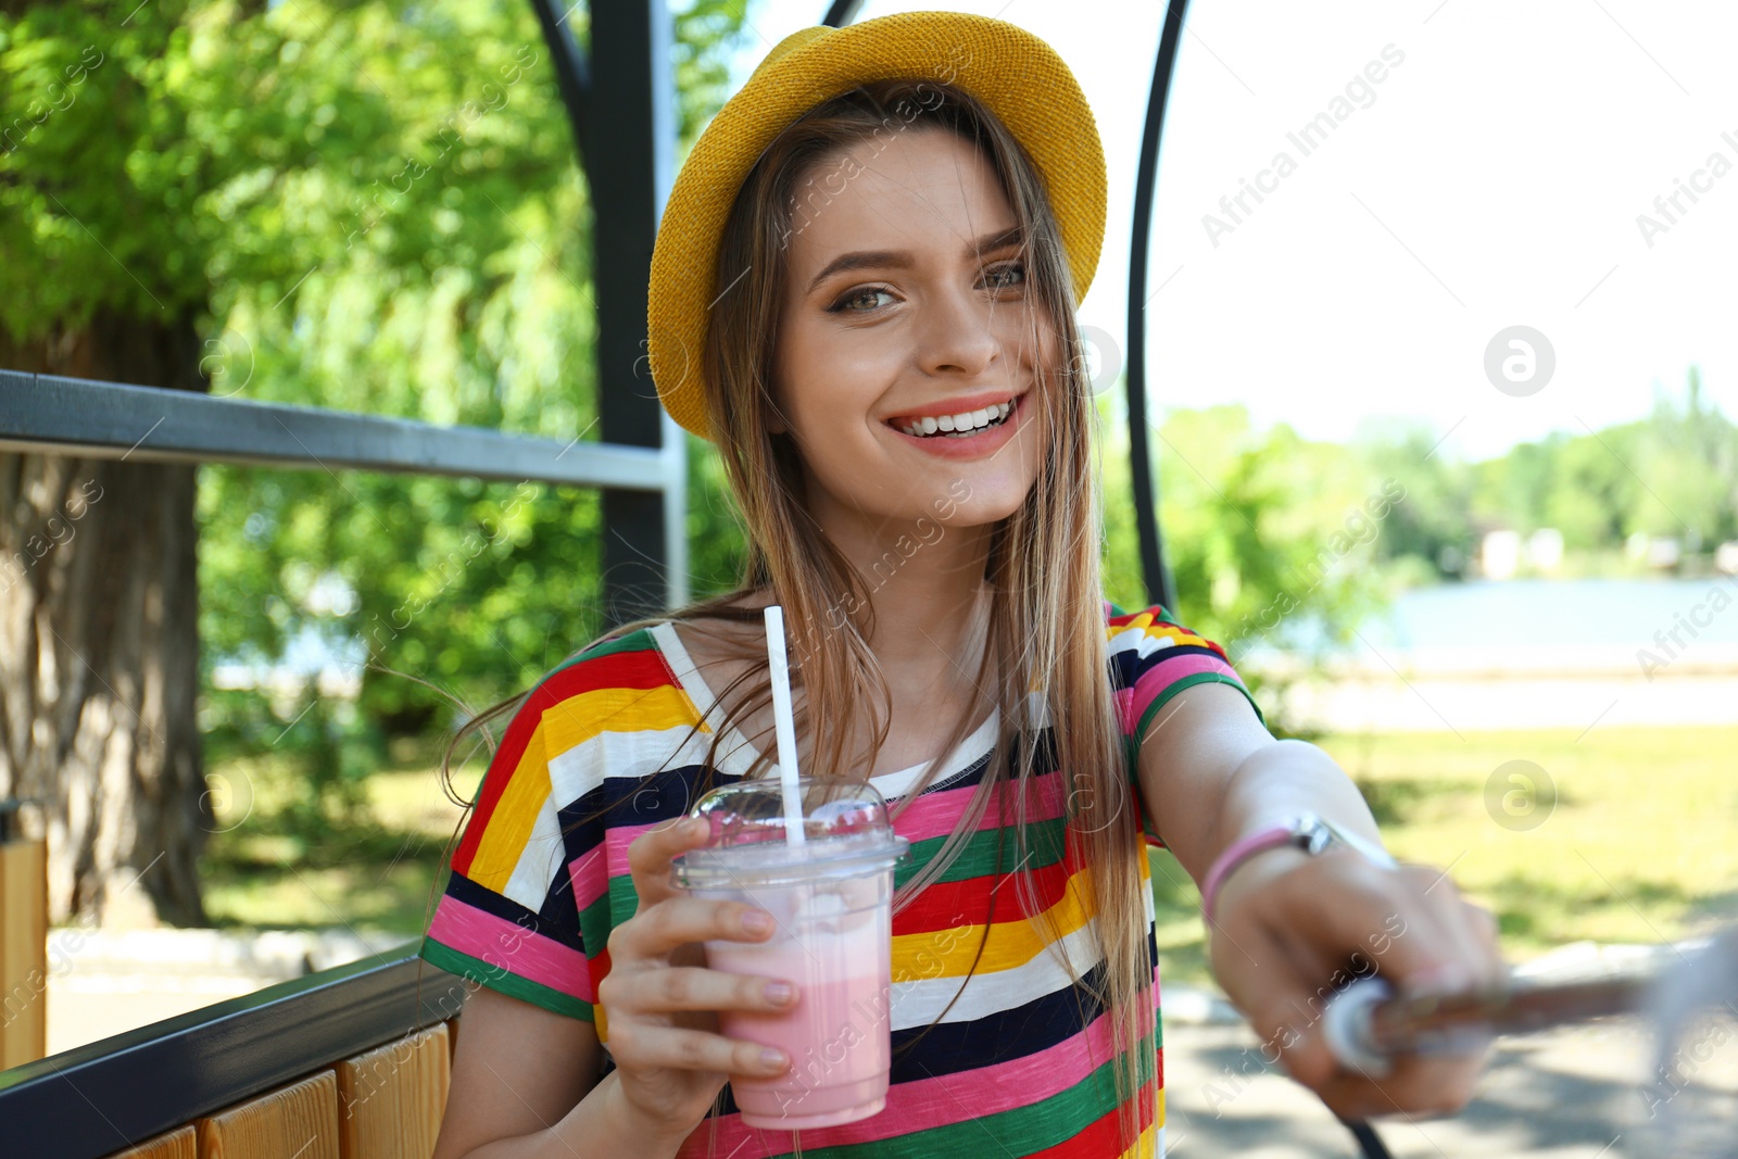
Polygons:
<instances>
[{"instance_id":1,"label":"blurred park background of trees, grass and water behind the woman","mask_svg":"<svg viewBox=\"0 0 1738 1159\"><path fill-rule=\"evenodd\" d=\"M212 394L587 438L591 217L530 5L130 7L0 10L0 368L153 382L191 344ZM678 160L786 31L676 5ZM1707 374L1681 360L1623 387L1627 417L1489 454L1427 419L1307 436L1156 375L1173 612L1517 961L1684 942L1738 902L1738 429ZM1331 374L1300 379L1300 408L1337 405ZM1100 414L1107 596L1144 606L1119 387ZM700 596L740 533L704 443L688 480ZM54 851L80 886L50 1051L419 935L488 759L459 751L448 798L448 737L605 629L589 492L203 466L193 502L207 792L137 848L196 872L90 876L103 825ZM9 624L76 520L43 542L0 513ZM12 704L54 679L5 666ZM1163 853L1154 883L1166 980L1210 987L1192 884Z\"/></svg>"}]
</instances>

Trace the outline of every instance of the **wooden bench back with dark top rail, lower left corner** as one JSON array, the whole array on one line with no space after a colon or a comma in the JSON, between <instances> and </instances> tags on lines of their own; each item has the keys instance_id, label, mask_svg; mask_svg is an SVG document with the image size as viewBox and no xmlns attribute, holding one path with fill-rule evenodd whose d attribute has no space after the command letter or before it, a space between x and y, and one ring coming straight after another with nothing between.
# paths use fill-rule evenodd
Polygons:
<instances>
[{"instance_id":1,"label":"wooden bench back with dark top rail, lower left corner","mask_svg":"<svg viewBox=\"0 0 1738 1159\"><path fill-rule=\"evenodd\" d=\"M469 989L370 959L0 1072L0 1150L429 1159Z\"/></svg>"}]
</instances>

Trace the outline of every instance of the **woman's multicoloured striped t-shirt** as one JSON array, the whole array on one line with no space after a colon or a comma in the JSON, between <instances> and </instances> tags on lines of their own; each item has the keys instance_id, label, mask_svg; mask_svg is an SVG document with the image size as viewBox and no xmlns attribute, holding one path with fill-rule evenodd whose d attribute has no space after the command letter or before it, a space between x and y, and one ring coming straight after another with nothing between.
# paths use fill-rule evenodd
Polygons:
<instances>
[{"instance_id":1,"label":"woman's multicoloured striped t-shirt","mask_svg":"<svg viewBox=\"0 0 1738 1159\"><path fill-rule=\"evenodd\" d=\"M1107 603L1105 624L1107 678L1133 778L1133 738L1145 733L1166 700L1203 681L1244 688L1224 650L1175 624L1164 608L1123 613ZM895 888L935 855L959 822L989 766L996 725L991 716L911 803L904 798L923 766L871 778L888 805L905 805L893 827L911 850L895 871ZM598 982L610 970L610 931L636 907L627 846L688 810L720 726L725 737L713 785L740 780L754 749L720 721L711 688L667 622L596 645L546 676L507 725L483 777L422 957L527 1003L591 1020L608 1046ZM1022 869L1032 872L1036 900L1060 931L1069 963L1095 980L1102 954L1090 878L1064 825L1064 778L1055 770L1036 773L1025 803ZM801 1154L1112 1154L1118 1121L1109 1020L1046 950L1027 921L1025 893L1003 890L1017 867L1008 855L1013 834L1001 827L1005 789L1006 782L998 785L977 832L942 878L893 916L893 1070L886 1109L857 1123L801 1131ZM1156 844L1151 818L1145 810L1142 815L1147 839ZM1149 881L1147 858L1140 860L1142 879ZM1154 1034L1140 1100L1142 1150L1163 1154L1158 944L1151 890L1144 897ZM726 1086L721 1110L700 1124L681 1156L699 1159L709 1150L730 1159L786 1156L793 1152L793 1133L744 1126Z\"/></svg>"}]
</instances>

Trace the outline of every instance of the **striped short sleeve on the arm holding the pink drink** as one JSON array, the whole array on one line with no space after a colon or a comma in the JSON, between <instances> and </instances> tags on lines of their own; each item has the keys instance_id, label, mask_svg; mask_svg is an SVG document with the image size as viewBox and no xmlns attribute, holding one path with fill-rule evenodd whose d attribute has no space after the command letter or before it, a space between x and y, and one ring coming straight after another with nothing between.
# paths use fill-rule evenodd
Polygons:
<instances>
[{"instance_id":1,"label":"striped short sleeve on the arm holding the pink drink","mask_svg":"<svg viewBox=\"0 0 1738 1159\"><path fill-rule=\"evenodd\" d=\"M560 674L546 678L513 716L483 773L474 811L454 850L445 893L421 956L502 994L594 1022L600 947L580 935L580 891L601 893L594 832L563 832L551 782L551 709ZM587 949L591 954L587 956Z\"/></svg>"}]
</instances>

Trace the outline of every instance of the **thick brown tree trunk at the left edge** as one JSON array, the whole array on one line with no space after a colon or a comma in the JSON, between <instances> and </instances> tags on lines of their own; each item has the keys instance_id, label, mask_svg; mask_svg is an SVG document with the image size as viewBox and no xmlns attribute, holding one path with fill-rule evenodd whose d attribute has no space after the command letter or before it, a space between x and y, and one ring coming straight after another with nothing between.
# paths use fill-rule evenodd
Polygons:
<instances>
[{"instance_id":1,"label":"thick brown tree trunk at the left edge","mask_svg":"<svg viewBox=\"0 0 1738 1159\"><path fill-rule=\"evenodd\" d=\"M198 363L191 318L0 330L9 370L205 391ZM0 452L0 796L42 801L24 831L49 843L54 921L148 897L205 923L195 474Z\"/></svg>"}]
</instances>

